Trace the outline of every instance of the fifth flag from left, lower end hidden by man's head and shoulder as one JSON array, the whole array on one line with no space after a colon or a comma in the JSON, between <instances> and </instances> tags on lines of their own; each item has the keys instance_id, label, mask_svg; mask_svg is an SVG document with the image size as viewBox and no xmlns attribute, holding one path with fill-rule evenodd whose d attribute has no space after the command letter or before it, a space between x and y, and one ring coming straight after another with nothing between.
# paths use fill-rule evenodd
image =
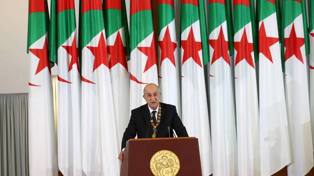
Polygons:
<instances>
[{"instance_id":1,"label":"fifth flag from left, lower end hidden by man's head and shoulder","mask_svg":"<svg viewBox=\"0 0 314 176\"><path fill-rule=\"evenodd\" d=\"M131 0L130 47L130 110L145 104L146 84L158 85L157 58L150 0ZM131 113L131 111L130 111Z\"/></svg>"}]
</instances>

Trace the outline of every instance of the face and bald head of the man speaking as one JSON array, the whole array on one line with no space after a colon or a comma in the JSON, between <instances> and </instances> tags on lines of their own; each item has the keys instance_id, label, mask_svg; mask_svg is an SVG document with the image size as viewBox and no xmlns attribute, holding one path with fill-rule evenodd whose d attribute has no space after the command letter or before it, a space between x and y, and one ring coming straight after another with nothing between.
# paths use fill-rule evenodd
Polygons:
<instances>
[{"instance_id":1,"label":"face and bald head of the man speaking","mask_svg":"<svg viewBox=\"0 0 314 176\"><path fill-rule=\"evenodd\" d=\"M160 92L156 85L147 85L143 97L152 110L157 109L160 100Z\"/></svg>"}]
</instances>

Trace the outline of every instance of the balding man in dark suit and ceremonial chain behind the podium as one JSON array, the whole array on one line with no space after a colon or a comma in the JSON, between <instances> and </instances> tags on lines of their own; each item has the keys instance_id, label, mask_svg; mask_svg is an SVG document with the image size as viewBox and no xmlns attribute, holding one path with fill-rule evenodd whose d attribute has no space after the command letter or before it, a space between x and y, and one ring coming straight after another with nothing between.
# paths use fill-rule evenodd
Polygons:
<instances>
[{"instance_id":1,"label":"balding man in dark suit and ceremonial chain behind the podium","mask_svg":"<svg viewBox=\"0 0 314 176\"><path fill-rule=\"evenodd\" d=\"M188 137L176 107L159 102L161 93L156 84L146 85L143 93L147 104L131 111L130 122L122 138L122 151L118 157L120 161L123 159L127 141L136 134L137 138L169 137L170 127L170 137L173 137L172 129L176 131L178 137Z\"/></svg>"}]
</instances>

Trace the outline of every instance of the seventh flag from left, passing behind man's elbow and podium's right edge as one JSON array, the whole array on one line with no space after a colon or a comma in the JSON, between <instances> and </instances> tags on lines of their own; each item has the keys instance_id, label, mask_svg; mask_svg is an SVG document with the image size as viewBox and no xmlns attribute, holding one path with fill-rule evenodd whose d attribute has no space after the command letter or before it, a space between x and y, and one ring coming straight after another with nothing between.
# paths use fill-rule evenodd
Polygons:
<instances>
[{"instance_id":1,"label":"seventh flag from left, passing behind man's elbow and podium's right edge","mask_svg":"<svg viewBox=\"0 0 314 176\"><path fill-rule=\"evenodd\" d=\"M189 136L199 140L202 173L209 176L212 158L199 13L198 0L182 0L182 120Z\"/></svg>"}]
</instances>

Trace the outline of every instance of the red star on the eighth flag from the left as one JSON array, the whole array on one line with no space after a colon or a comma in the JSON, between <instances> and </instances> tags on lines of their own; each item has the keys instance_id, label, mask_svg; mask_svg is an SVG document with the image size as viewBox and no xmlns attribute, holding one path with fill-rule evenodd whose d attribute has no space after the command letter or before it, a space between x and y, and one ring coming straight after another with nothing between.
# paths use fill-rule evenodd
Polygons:
<instances>
[{"instance_id":1,"label":"red star on the eighth flag from the left","mask_svg":"<svg viewBox=\"0 0 314 176\"><path fill-rule=\"evenodd\" d=\"M210 46L214 49L214 53L212 54L211 64L222 57L223 60L226 61L230 66L229 60L229 43L225 40L224 32L222 30L222 25L220 25L220 31L217 39L209 39Z\"/></svg>"}]
</instances>

